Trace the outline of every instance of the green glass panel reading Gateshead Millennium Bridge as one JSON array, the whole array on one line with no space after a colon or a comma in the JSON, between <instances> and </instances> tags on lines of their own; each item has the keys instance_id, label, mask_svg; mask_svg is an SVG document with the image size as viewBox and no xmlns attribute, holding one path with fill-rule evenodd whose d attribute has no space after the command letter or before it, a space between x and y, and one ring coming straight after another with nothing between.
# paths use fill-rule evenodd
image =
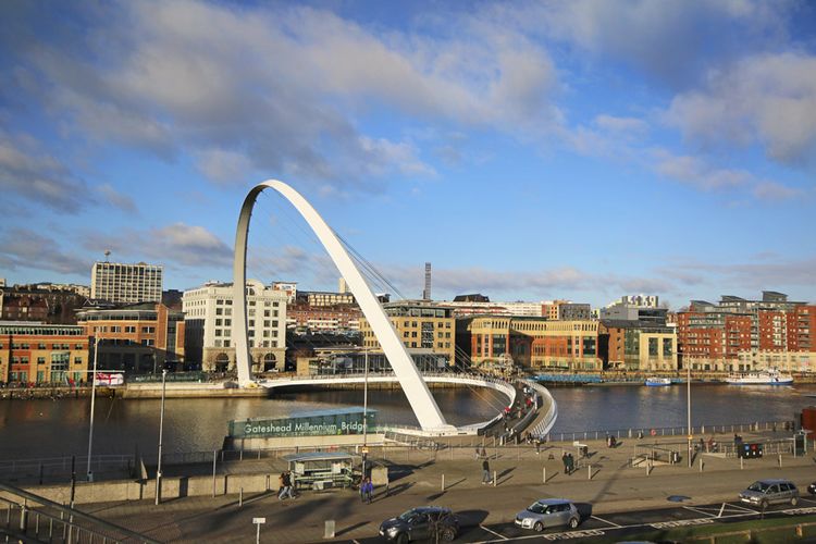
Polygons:
<instances>
[{"instance_id":1,"label":"green glass panel reading Gateshead Millennium Bridge","mask_svg":"<svg viewBox=\"0 0 816 544\"><path fill-rule=\"evenodd\" d=\"M374 429L376 410L366 412L366 426ZM362 434L363 409L342 408L296 412L289 418L252 418L230 421L230 436L252 438L269 436L323 436Z\"/></svg>"}]
</instances>

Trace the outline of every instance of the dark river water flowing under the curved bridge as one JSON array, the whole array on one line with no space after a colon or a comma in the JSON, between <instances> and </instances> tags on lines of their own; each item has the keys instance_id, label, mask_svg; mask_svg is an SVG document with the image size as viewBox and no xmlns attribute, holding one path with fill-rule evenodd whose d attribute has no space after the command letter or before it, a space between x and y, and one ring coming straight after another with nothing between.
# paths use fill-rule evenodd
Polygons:
<instances>
[{"instance_id":1,"label":"dark river water flowing under the curved bridge","mask_svg":"<svg viewBox=\"0 0 816 544\"><path fill-rule=\"evenodd\" d=\"M553 432L682 426L685 387L603 386L549 390L559 416ZM493 418L505 397L493 390L433 390L448 422L461 425ZM692 422L731 424L798 419L816 405L816 385L793 387L692 386ZM360 391L276 394L274 398L168 399L165 452L211 452L221 447L228 420L285 418L294 412L362 406ZM416 425L400 392L370 391L378 422ZM0 460L86 455L89 399L0 400ZM94 425L95 454L153 452L160 400L100 398Z\"/></svg>"}]
</instances>

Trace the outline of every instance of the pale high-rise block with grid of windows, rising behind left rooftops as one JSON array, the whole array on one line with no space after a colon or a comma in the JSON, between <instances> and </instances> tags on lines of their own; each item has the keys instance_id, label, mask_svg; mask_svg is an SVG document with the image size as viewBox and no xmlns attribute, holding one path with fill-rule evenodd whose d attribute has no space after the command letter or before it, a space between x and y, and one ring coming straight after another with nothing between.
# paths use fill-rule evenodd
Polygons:
<instances>
[{"instance_id":1,"label":"pale high-rise block with grid of windows, rising behind left rooftops","mask_svg":"<svg viewBox=\"0 0 816 544\"><path fill-rule=\"evenodd\" d=\"M159 302L162 290L162 267L95 262L90 271L90 298L119 304Z\"/></svg>"}]
</instances>

